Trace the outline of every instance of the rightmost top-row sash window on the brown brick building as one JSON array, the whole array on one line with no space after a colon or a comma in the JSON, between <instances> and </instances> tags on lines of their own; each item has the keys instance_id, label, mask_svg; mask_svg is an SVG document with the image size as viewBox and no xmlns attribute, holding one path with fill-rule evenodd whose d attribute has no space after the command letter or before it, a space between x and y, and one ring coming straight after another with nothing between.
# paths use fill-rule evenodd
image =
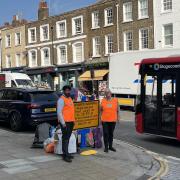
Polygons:
<instances>
[{"instance_id":1,"label":"rightmost top-row sash window on the brown brick building","mask_svg":"<svg viewBox=\"0 0 180 180\"><path fill-rule=\"evenodd\" d=\"M148 18L148 0L139 0L139 19Z\"/></svg>"}]
</instances>

